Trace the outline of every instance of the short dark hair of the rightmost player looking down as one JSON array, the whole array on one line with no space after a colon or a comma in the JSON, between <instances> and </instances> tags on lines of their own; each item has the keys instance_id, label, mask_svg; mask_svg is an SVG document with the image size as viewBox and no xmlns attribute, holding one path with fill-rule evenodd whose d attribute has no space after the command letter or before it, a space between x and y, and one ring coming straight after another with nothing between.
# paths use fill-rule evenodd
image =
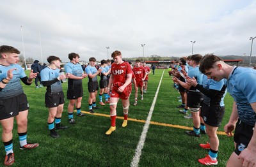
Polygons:
<instances>
[{"instance_id":1,"label":"short dark hair of the rightmost player looking down","mask_svg":"<svg viewBox=\"0 0 256 167\"><path fill-rule=\"evenodd\" d=\"M212 65L217 61L223 61L223 59L214 54L206 54L200 61L199 70L205 73L207 69L213 68Z\"/></svg>"}]
</instances>

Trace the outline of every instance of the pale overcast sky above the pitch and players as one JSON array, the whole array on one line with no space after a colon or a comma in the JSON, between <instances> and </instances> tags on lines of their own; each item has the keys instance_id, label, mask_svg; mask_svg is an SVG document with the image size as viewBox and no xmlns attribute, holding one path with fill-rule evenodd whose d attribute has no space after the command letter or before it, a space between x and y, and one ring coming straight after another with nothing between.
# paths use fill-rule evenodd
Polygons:
<instances>
[{"instance_id":1,"label":"pale overcast sky above the pitch and players","mask_svg":"<svg viewBox=\"0 0 256 167\"><path fill-rule=\"evenodd\" d=\"M84 61L115 50L142 57L141 44L144 57L181 57L191 55L191 41L194 54L250 55L255 9L256 0L8 0L0 6L0 45L39 61L42 48L43 62L68 61L70 52Z\"/></svg>"}]
</instances>

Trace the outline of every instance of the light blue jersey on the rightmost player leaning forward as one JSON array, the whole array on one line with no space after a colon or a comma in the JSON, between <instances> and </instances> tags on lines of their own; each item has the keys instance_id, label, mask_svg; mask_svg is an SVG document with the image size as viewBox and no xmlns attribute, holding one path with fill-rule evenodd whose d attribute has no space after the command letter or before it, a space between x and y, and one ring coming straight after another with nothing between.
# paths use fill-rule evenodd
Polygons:
<instances>
[{"instance_id":1,"label":"light blue jersey on the rightmost player leaning forward","mask_svg":"<svg viewBox=\"0 0 256 167\"><path fill-rule=\"evenodd\" d=\"M256 70L236 68L228 76L227 91L236 101L239 119L251 126L255 125L256 114L250 103L256 102Z\"/></svg>"}]
</instances>

